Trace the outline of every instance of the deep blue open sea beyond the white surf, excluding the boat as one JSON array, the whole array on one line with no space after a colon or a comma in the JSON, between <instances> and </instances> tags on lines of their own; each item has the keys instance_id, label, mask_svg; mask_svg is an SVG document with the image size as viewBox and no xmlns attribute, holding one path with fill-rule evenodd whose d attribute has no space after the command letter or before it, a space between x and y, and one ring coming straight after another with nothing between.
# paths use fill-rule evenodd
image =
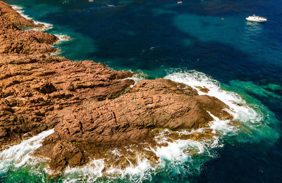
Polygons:
<instances>
[{"instance_id":1,"label":"deep blue open sea beyond the white surf, excluding the boat","mask_svg":"<svg viewBox=\"0 0 282 183\"><path fill-rule=\"evenodd\" d=\"M47 32L70 36L71 41L56 46L61 56L143 72L148 78L165 77L171 70L204 72L248 103L268 108L275 122L267 125L281 133L282 1L6 2L54 25ZM253 13L269 21L246 22ZM255 137L243 143L226 140L216 156L199 174L159 172L144 182L282 182L281 137L271 143ZM9 176L13 171L2 180L11 181Z\"/></svg>"}]
</instances>

